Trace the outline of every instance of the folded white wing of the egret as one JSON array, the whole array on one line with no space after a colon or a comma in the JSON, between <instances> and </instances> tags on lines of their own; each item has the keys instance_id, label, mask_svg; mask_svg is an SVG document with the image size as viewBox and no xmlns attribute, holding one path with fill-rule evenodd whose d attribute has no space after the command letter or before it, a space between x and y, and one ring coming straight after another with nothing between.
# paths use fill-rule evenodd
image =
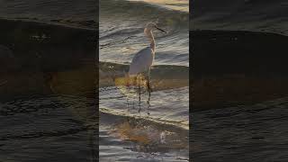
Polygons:
<instances>
[{"instance_id":1,"label":"folded white wing of the egret","mask_svg":"<svg viewBox=\"0 0 288 162\"><path fill-rule=\"evenodd\" d=\"M137 75L148 70L148 68L152 65L153 58L154 55L150 47L141 49L132 59L129 75Z\"/></svg>"}]
</instances>

